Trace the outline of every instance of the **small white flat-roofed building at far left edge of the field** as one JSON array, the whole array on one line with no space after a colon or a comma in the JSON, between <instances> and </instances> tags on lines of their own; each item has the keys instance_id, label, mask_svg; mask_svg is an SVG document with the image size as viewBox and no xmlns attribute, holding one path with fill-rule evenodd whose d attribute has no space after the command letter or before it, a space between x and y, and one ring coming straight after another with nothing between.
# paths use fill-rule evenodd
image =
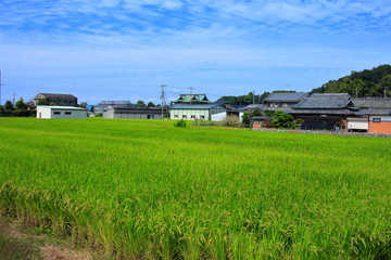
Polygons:
<instances>
[{"instance_id":1,"label":"small white flat-roofed building at far left edge of the field","mask_svg":"<svg viewBox=\"0 0 391 260\"><path fill-rule=\"evenodd\" d=\"M74 106L37 106L37 118L87 118L87 108Z\"/></svg>"}]
</instances>

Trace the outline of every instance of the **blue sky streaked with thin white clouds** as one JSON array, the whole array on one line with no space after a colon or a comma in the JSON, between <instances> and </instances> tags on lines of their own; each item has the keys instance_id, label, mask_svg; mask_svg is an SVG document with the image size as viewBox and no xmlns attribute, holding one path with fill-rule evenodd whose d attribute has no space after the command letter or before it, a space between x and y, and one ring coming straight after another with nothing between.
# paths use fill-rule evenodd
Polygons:
<instances>
[{"instance_id":1,"label":"blue sky streaked with thin white clouds","mask_svg":"<svg viewBox=\"0 0 391 260\"><path fill-rule=\"evenodd\" d=\"M390 0L1 0L2 104L311 91L391 63Z\"/></svg>"}]
</instances>

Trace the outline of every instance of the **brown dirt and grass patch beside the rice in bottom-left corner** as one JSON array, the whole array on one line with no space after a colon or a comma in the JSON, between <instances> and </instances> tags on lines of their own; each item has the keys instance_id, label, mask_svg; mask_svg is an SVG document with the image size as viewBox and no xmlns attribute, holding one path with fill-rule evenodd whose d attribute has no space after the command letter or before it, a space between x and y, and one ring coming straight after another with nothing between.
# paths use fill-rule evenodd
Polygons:
<instances>
[{"instance_id":1,"label":"brown dirt and grass patch beside the rice in bottom-left corner","mask_svg":"<svg viewBox=\"0 0 391 260\"><path fill-rule=\"evenodd\" d=\"M87 250L73 250L64 239L36 235L34 227L0 217L0 260L92 260Z\"/></svg>"}]
</instances>

